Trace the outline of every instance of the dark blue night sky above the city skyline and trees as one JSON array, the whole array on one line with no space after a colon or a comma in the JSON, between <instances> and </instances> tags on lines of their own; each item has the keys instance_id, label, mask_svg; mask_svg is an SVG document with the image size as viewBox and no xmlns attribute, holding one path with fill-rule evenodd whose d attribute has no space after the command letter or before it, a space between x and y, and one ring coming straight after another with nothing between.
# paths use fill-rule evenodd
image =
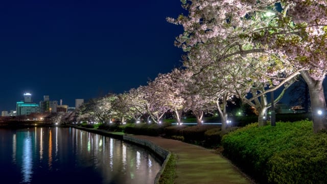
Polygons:
<instances>
[{"instance_id":1,"label":"dark blue night sky above the city skyline and trees","mask_svg":"<svg viewBox=\"0 0 327 184\"><path fill-rule=\"evenodd\" d=\"M0 110L23 93L75 106L146 85L180 66L174 46L182 27L169 24L178 0L0 2Z\"/></svg>"}]
</instances>

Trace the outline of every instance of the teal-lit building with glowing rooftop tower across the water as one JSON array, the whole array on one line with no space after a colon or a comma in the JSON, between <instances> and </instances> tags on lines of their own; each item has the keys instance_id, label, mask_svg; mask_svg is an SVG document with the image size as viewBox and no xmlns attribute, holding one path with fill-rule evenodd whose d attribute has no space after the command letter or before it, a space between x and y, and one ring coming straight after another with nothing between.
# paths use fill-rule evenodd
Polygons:
<instances>
[{"instance_id":1,"label":"teal-lit building with glowing rooftop tower across the water","mask_svg":"<svg viewBox=\"0 0 327 184\"><path fill-rule=\"evenodd\" d=\"M16 102L17 116L39 112L39 105L32 102L32 94L25 93L24 101Z\"/></svg>"}]
</instances>

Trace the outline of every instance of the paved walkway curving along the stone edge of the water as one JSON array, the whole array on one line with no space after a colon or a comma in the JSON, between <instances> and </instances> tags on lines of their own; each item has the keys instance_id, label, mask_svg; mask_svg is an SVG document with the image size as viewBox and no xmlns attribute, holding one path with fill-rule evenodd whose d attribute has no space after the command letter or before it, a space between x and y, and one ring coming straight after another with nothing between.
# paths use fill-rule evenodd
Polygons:
<instances>
[{"instance_id":1,"label":"paved walkway curving along the stone edge of the water","mask_svg":"<svg viewBox=\"0 0 327 184\"><path fill-rule=\"evenodd\" d=\"M212 150L161 137L133 136L151 141L177 155L176 184L253 183L229 160L215 154Z\"/></svg>"}]
</instances>

